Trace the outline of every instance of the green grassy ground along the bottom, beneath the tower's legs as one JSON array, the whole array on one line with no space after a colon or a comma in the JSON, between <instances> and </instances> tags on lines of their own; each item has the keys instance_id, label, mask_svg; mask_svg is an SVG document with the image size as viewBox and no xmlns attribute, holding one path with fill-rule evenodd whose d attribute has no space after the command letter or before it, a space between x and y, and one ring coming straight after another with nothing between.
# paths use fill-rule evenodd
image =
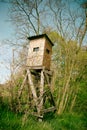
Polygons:
<instances>
[{"instance_id":1,"label":"green grassy ground along the bottom, beneath the tower's legs","mask_svg":"<svg viewBox=\"0 0 87 130\"><path fill-rule=\"evenodd\" d=\"M11 112L7 106L0 107L0 130L87 130L87 118L80 114L46 114L43 122L29 117L23 125L23 116Z\"/></svg>"}]
</instances>

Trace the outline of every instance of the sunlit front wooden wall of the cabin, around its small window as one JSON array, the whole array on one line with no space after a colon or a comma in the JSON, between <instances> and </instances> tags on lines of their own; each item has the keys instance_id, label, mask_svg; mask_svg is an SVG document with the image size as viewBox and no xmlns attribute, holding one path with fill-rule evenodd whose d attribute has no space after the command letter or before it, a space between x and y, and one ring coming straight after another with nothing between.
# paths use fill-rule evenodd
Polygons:
<instances>
[{"instance_id":1,"label":"sunlit front wooden wall of the cabin, around its small window","mask_svg":"<svg viewBox=\"0 0 87 130\"><path fill-rule=\"evenodd\" d=\"M45 38L34 39L30 41L27 65L43 66ZM33 49L39 47L39 51L34 52Z\"/></svg>"}]
</instances>

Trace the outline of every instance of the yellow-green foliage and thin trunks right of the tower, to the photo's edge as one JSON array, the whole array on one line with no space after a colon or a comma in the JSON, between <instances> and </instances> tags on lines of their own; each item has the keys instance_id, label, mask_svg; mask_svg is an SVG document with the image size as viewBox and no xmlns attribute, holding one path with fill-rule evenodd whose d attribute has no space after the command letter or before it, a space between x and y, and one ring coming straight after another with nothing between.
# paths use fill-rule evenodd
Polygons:
<instances>
[{"instance_id":1,"label":"yellow-green foliage and thin trunks right of the tower, to the photo's edge","mask_svg":"<svg viewBox=\"0 0 87 130\"><path fill-rule=\"evenodd\" d=\"M87 111L87 51L77 42L67 41L51 32L53 48L54 96L58 114L65 111Z\"/></svg>"}]
</instances>

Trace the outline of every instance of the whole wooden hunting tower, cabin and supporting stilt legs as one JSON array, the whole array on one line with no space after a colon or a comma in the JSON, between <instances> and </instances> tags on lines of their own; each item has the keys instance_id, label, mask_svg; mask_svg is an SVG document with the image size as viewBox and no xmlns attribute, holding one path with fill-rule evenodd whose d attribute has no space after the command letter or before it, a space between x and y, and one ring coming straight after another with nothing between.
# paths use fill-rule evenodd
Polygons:
<instances>
[{"instance_id":1,"label":"whole wooden hunting tower, cabin and supporting stilt legs","mask_svg":"<svg viewBox=\"0 0 87 130\"><path fill-rule=\"evenodd\" d=\"M28 105L40 120L44 113L55 111L56 106L51 92L53 72L50 70L53 43L46 34L32 36L26 63L26 76L19 90L28 86ZM26 84L26 85L25 85Z\"/></svg>"}]
</instances>

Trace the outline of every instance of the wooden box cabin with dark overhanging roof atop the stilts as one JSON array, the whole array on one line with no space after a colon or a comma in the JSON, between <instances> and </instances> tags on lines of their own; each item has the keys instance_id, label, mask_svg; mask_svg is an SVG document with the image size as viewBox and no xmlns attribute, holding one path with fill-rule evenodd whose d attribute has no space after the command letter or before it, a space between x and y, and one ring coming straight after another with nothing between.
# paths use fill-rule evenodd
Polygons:
<instances>
[{"instance_id":1,"label":"wooden box cabin with dark overhanging roof atop the stilts","mask_svg":"<svg viewBox=\"0 0 87 130\"><path fill-rule=\"evenodd\" d=\"M43 67L50 70L53 43L46 34L32 36L30 40L27 66L34 69Z\"/></svg>"}]
</instances>

